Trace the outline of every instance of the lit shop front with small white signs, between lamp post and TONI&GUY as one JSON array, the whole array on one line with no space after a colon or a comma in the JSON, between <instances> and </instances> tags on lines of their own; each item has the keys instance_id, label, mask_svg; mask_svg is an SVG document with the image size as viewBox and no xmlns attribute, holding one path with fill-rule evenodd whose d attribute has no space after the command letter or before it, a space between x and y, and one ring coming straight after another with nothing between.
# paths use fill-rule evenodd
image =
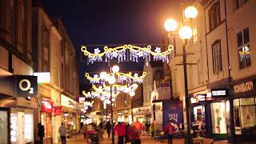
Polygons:
<instances>
[{"instance_id":1,"label":"lit shop front with small white signs, between lamp post and TONI&GUY","mask_svg":"<svg viewBox=\"0 0 256 144\"><path fill-rule=\"evenodd\" d=\"M226 139L230 134L230 102L227 90L205 90L194 94L190 100L194 137Z\"/></svg>"}]
</instances>

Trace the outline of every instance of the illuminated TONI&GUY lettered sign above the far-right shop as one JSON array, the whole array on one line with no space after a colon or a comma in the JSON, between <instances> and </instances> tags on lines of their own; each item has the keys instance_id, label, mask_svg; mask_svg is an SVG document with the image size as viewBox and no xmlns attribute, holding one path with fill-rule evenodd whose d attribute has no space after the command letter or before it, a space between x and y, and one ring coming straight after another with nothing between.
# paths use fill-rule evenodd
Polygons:
<instances>
[{"instance_id":1,"label":"illuminated TONI&GUY lettered sign above the far-right shop","mask_svg":"<svg viewBox=\"0 0 256 144\"><path fill-rule=\"evenodd\" d=\"M240 94L244 92L248 92L254 90L254 82L243 82L238 85L234 85L234 94Z\"/></svg>"}]
</instances>

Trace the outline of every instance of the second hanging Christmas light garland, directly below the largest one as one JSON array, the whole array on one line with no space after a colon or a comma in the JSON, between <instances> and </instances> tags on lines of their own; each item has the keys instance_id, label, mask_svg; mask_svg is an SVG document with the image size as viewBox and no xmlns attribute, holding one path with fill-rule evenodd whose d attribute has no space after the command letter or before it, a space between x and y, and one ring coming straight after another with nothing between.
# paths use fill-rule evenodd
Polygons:
<instances>
[{"instance_id":1,"label":"second hanging Christmas light garland, directly below the largest one","mask_svg":"<svg viewBox=\"0 0 256 144\"><path fill-rule=\"evenodd\" d=\"M118 82L136 82L136 83L142 83L143 79L146 77L146 72L143 72L141 76L138 76L138 74L132 74L131 72L129 73L121 73L117 72L114 73L118 77ZM101 83L106 81L106 79L109 79L111 77L110 74L106 75L106 78L102 79L101 77L98 76L98 74L94 74L94 77L90 77L90 74L86 73L85 74L86 78L90 81L91 84L96 84L96 83Z\"/></svg>"}]
</instances>

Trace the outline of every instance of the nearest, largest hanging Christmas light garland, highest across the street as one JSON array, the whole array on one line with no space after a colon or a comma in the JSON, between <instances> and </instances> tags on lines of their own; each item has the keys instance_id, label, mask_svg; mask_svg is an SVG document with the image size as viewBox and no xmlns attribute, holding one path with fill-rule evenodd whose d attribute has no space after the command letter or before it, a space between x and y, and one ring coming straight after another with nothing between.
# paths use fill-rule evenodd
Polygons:
<instances>
[{"instance_id":1,"label":"nearest, largest hanging Christmas light garland, highest across the street","mask_svg":"<svg viewBox=\"0 0 256 144\"><path fill-rule=\"evenodd\" d=\"M154 61L162 61L168 63L168 55L170 54L171 50L174 50L174 46L169 45L168 49L163 52L161 47L156 47L155 50L151 50L151 46L141 47L133 45L117 46L114 48L104 46L104 51L102 53L98 48L94 49L94 53L90 53L86 46L82 46L81 50L83 54L89 58L88 63L91 64L94 62L102 62L103 56L105 56L106 62L113 58L117 58L118 62L123 62L126 60L126 50L129 50L129 58L130 61L133 62L138 62L138 58L147 58L150 61L150 57L152 55Z\"/></svg>"}]
</instances>

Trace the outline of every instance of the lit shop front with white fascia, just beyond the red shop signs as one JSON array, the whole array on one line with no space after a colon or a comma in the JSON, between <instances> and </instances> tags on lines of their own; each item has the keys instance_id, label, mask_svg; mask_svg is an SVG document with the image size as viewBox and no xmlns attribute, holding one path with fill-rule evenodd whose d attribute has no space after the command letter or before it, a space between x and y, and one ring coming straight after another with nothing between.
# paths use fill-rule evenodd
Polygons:
<instances>
[{"instance_id":1,"label":"lit shop front with white fascia, just beyond the red shop signs","mask_svg":"<svg viewBox=\"0 0 256 144\"><path fill-rule=\"evenodd\" d=\"M78 102L61 94L62 105L62 122L64 122L67 130L67 136L70 138L72 134L80 130L80 115L78 114Z\"/></svg>"}]
</instances>

